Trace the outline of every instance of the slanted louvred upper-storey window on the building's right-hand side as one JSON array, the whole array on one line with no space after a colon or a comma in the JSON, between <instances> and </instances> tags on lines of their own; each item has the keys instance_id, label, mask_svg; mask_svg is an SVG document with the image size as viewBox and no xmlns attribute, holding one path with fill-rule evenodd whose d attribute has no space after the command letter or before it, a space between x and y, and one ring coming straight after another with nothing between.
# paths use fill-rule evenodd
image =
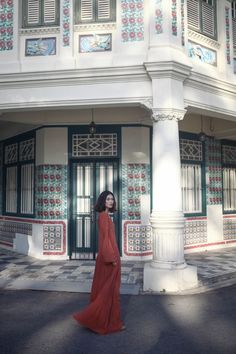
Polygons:
<instances>
[{"instance_id":1,"label":"slanted louvred upper-storey window on the building's right-hand side","mask_svg":"<svg viewBox=\"0 0 236 354\"><path fill-rule=\"evenodd\" d=\"M188 27L217 39L216 0L187 0Z\"/></svg>"}]
</instances>

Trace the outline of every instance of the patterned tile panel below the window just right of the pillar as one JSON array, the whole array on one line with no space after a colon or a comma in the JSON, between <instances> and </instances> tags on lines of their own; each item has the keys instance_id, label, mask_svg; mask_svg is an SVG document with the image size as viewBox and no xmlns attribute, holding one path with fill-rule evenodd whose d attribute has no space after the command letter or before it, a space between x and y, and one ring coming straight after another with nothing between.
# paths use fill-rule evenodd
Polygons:
<instances>
[{"instance_id":1,"label":"patterned tile panel below the window just right of the pillar","mask_svg":"<svg viewBox=\"0 0 236 354\"><path fill-rule=\"evenodd\" d=\"M184 245L207 242L207 220L204 218L186 220Z\"/></svg>"}]
</instances>

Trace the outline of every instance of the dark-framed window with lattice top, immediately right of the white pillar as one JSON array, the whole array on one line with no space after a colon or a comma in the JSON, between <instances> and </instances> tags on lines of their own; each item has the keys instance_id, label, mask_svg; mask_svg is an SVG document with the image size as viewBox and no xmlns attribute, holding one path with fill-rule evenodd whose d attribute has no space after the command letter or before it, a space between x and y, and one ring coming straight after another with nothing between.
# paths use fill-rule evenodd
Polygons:
<instances>
[{"instance_id":1,"label":"dark-framed window with lattice top, immediately right of the white pillar","mask_svg":"<svg viewBox=\"0 0 236 354\"><path fill-rule=\"evenodd\" d=\"M205 214L204 143L180 133L182 208L185 216Z\"/></svg>"}]
</instances>

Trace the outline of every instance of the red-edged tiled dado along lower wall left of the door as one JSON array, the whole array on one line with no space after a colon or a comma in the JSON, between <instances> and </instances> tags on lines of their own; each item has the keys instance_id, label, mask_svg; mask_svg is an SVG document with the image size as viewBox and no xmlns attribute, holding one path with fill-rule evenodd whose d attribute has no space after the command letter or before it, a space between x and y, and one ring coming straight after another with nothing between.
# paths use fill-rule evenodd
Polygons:
<instances>
[{"instance_id":1,"label":"red-edged tiled dado along lower wall left of the door","mask_svg":"<svg viewBox=\"0 0 236 354\"><path fill-rule=\"evenodd\" d=\"M0 244L13 247L17 233L32 236L34 224L42 225L42 251L44 255L64 255L66 253L66 224L64 221L34 219L24 219L23 221L14 217L0 217Z\"/></svg>"}]
</instances>

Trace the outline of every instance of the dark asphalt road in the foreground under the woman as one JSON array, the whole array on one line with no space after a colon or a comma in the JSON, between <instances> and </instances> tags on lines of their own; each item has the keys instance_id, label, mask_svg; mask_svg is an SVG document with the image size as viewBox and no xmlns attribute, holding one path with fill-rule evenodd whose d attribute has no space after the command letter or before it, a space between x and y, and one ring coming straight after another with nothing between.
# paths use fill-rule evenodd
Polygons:
<instances>
[{"instance_id":1,"label":"dark asphalt road in the foreground under the woman","mask_svg":"<svg viewBox=\"0 0 236 354\"><path fill-rule=\"evenodd\" d=\"M71 317L88 298L1 290L1 354L236 353L236 285L198 295L123 295L127 330L106 336Z\"/></svg>"}]
</instances>

